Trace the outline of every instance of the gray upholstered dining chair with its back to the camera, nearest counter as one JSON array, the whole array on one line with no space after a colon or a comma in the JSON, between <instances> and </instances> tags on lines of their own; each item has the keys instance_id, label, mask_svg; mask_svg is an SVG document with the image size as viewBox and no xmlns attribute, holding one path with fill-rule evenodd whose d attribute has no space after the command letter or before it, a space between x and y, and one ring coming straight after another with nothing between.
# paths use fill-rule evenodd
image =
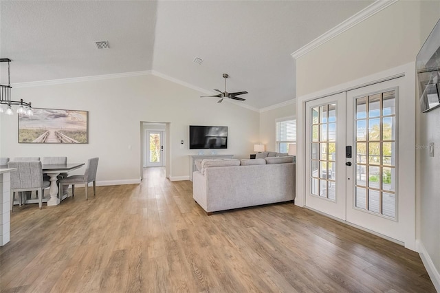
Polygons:
<instances>
[{"instance_id":1,"label":"gray upholstered dining chair with its back to the camera, nearest counter","mask_svg":"<svg viewBox=\"0 0 440 293\"><path fill-rule=\"evenodd\" d=\"M49 181L43 180L41 161L8 162L8 168L16 171L10 173L11 212L14 206L15 193L19 193L19 204L23 202L21 192L36 191L39 197L39 208L43 206L44 189L50 186ZM25 201L24 201L25 203Z\"/></svg>"}]
</instances>

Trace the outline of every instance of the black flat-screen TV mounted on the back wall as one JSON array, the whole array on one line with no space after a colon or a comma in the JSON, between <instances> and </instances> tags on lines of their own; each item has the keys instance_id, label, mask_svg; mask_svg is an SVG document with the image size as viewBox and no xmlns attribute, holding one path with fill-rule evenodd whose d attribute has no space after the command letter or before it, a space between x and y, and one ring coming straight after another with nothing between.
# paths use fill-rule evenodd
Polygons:
<instances>
[{"instance_id":1,"label":"black flat-screen TV mounted on the back wall","mask_svg":"<svg viewBox=\"0 0 440 293\"><path fill-rule=\"evenodd\" d=\"M190 149L228 149L228 127L190 125Z\"/></svg>"}]
</instances>

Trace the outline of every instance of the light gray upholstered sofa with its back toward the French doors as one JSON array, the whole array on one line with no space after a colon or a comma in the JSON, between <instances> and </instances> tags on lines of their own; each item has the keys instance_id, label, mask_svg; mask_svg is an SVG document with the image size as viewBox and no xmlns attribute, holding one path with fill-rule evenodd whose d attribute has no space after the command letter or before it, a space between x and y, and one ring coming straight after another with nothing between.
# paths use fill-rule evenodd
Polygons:
<instances>
[{"instance_id":1,"label":"light gray upholstered sofa with its back toward the French doors","mask_svg":"<svg viewBox=\"0 0 440 293\"><path fill-rule=\"evenodd\" d=\"M293 158L200 160L192 174L193 197L208 213L295 199Z\"/></svg>"}]
</instances>

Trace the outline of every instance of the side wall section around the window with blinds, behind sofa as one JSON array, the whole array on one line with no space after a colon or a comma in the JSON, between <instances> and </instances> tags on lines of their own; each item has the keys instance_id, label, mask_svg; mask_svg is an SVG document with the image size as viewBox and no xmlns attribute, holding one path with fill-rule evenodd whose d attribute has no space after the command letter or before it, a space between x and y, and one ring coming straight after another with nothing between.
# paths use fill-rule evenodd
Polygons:
<instances>
[{"instance_id":1,"label":"side wall section around the window with blinds, behind sofa","mask_svg":"<svg viewBox=\"0 0 440 293\"><path fill-rule=\"evenodd\" d=\"M266 151L276 151L276 122L296 115L296 100L285 103L283 107L263 109L260 113L260 140Z\"/></svg>"}]
</instances>

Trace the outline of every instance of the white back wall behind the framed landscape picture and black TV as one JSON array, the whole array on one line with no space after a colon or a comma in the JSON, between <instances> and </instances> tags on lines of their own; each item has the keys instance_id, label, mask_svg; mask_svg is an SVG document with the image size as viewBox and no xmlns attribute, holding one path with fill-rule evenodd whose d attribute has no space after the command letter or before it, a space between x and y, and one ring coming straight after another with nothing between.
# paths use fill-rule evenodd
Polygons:
<instances>
[{"instance_id":1,"label":"white back wall behind the framed landscape picture and black TV","mask_svg":"<svg viewBox=\"0 0 440 293\"><path fill-rule=\"evenodd\" d=\"M190 124L228 126L228 149L218 153L248 158L259 137L259 113L153 75L14 88L14 98L34 107L89 111L88 144L19 144L17 116L1 116L1 157L67 155L69 162L100 157L98 184L140 182L141 123L169 123L169 175L188 179ZM184 140L184 149L180 141ZM81 172L81 171L78 171Z\"/></svg>"}]
</instances>

